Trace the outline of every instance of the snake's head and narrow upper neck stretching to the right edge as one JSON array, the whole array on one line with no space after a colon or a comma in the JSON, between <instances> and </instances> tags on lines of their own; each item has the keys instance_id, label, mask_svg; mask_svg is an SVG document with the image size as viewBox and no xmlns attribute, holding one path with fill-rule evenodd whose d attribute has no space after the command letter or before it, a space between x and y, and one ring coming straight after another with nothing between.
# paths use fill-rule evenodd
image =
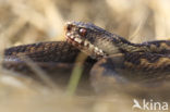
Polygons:
<instances>
[{"instance_id":1,"label":"snake's head and narrow upper neck stretching to the right edge","mask_svg":"<svg viewBox=\"0 0 170 112\"><path fill-rule=\"evenodd\" d=\"M81 29L84 29L86 33L81 33ZM123 37L111 34L90 23L69 22L65 35L68 41L94 58L126 52L170 54L169 40L132 43ZM78 41L76 41L77 38L80 39ZM95 48L101 50L104 54L96 52Z\"/></svg>"}]
</instances>

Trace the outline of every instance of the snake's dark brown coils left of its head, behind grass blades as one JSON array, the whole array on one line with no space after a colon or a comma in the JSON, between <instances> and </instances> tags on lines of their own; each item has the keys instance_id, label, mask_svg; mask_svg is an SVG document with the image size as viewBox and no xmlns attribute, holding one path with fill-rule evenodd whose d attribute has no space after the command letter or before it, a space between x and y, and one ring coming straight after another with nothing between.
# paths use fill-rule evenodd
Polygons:
<instances>
[{"instance_id":1,"label":"snake's dark brown coils left of its head, behind grass blades","mask_svg":"<svg viewBox=\"0 0 170 112\"><path fill-rule=\"evenodd\" d=\"M4 50L3 67L13 70L38 79L36 73L27 65L23 58L28 58L39 66L42 72L57 84L66 85L73 67L75 59L80 50L66 41L47 41L31 45L22 45L8 48ZM81 60L80 60L81 61ZM84 73L87 74L95 60L87 58L84 62ZM88 76L84 75L84 78ZM61 82L61 83L60 83Z\"/></svg>"}]
</instances>

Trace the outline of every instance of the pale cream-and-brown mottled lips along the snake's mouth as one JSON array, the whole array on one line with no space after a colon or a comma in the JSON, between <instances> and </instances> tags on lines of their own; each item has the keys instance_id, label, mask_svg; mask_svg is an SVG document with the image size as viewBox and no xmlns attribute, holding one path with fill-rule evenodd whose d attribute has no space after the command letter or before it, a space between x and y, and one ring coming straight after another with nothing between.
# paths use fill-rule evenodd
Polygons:
<instances>
[{"instance_id":1,"label":"pale cream-and-brown mottled lips along the snake's mouth","mask_svg":"<svg viewBox=\"0 0 170 112\"><path fill-rule=\"evenodd\" d=\"M65 34L66 41L75 47L77 47L83 52L90 55L93 59L100 59L107 55L101 49L98 47L95 47L93 43L90 43L88 40L83 40L78 38L78 36L74 36L74 34L68 32Z\"/></svg>"}]
</instances>

